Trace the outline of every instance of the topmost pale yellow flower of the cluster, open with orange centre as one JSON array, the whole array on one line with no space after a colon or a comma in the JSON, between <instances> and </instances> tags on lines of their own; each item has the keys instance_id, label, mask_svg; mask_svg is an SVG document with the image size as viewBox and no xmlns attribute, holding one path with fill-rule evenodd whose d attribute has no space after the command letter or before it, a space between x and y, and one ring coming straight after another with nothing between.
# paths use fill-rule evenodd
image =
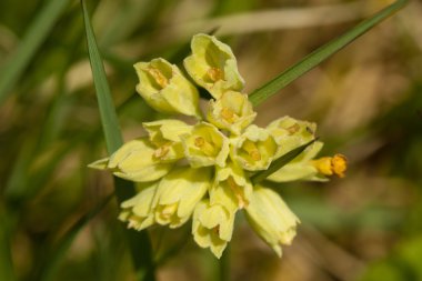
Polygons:
<instances>
[{"instance_id":1,"label":"topmost pale yellow flower of the cluster, open with orange centre","mask_svg":"<svg viewBox=\"0 0 422 281\"><path fill-rule=\"evenodd\" d=\"M229 46L213 36L197 34L191 41L192 54L184 59L184 68L192 79L219 99L228 90L240 91L244 81Z\"/></svg>"}]
</instances>

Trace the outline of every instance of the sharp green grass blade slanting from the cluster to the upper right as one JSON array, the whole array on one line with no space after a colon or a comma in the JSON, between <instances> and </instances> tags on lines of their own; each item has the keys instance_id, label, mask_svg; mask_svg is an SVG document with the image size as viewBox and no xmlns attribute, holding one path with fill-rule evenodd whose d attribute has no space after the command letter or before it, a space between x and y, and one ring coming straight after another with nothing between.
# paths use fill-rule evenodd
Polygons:
<instances>
[{"instance_id":1,"label":"sharp green grass blade slanting from the cluster to the upper right","mask_svg":"<svg viewBox=\"0 0 422 281\"><path fill-rule=\"evenodd\" d=\"M262 86L261 88L254 90L250 94L250 101L253 106L259 106L278 91L290 84L292 81L307 73L322 61L326 60L329 57L340 51L342 48L351 43L358 37L365 33L368 30L373 28L375 24L380 23L382 20L396 12L408 3L408 0L399 0L390 4L385 9L375 13L371 18L362 21L353 29L349 30L344 34L338 37L336 39L328 42L326 44L320 47L312 53L308 54L301 61Z\"/></svg>"}]
</instances>

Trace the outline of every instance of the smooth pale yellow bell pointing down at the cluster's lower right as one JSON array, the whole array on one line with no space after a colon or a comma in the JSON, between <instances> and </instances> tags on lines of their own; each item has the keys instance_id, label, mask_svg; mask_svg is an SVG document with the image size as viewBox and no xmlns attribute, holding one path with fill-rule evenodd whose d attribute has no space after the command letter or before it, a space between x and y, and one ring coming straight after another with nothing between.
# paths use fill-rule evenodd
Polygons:
<instances>
[{"instance_id":1,"label":"smooth pale yellow bell pointing down at the cluster's lower right","mask_svg":"<svg viewBox=\"0 0 422 281\"><path fill-rule=\"evenodd\" d=\"M299 219L278 193L255 187L251 203L245 208L253 230L281 257L281 244L290 244L297 233Z\"/></svg>"}]
</instances>

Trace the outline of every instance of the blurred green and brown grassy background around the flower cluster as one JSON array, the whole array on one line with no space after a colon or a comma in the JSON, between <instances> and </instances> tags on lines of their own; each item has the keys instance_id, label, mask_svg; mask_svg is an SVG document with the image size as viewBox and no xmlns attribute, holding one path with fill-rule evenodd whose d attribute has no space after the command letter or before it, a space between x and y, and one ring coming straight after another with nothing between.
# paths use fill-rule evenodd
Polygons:
<instances>
[{"instance_id":1,"label":"blurred green and brown grassy background around the flower cluster","mask_svg":"<svg viewBox=\"0 0 422 281\"><path fill-rule=\"evenodd\" d=\"M111 194L112 178L87 168L107 153L80 3L46 11L52 1L0 2L0 77L22 64L0 99L1 277L13 280L12 269L16 280L134 280L114 200L83 220ZM134 62L180 63L192 34L213 31L251 92L391 2L87 1L125 140L160 117L134 92ZM53 24L39 39L41 16ZM13 57L22 48L29 56ZM414 0L257 109L260 126L285 114L316 122L322 154L345 154L349 171L274 187L302 221L282 259L240 215L231 280L422 280L421 50ZM218 280L217 260L189 228L150 234L159 281Z\"/></svg>"}]
</instances>

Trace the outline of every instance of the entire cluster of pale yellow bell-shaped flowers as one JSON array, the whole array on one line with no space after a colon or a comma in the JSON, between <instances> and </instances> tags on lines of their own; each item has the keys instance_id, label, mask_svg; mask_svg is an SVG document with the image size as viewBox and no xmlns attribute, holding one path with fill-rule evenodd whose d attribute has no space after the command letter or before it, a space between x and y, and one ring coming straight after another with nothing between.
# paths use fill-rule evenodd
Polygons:
<instances>
[{"instance_id":1,"label":"entire cluster of pale yellow bell-shaped flowers","mask_svg":"<svg viewBox=\"0 0 422 281\"><path fill-rule=\"evenodd\" d=\"M139 62L134 64L140 80L137 91L145 102L161 112L194 117L195 123L144 122L148 137L123 144L90 167L139 183L139 193L121 204L119 219L129 228L179 228L192 219L194 241L220 258L242 210L258 235L281 255L281 244L291 243L299 219L275 191L253 184L251 177L313 140L315 124L290 117L267 128L252 124L257 113L241 92L244 81L230 47L212 36L197 34L191 49L184 69L213 98L204 118L197 87L177 66L164 59ZM321 148L315 141L267 180L343 177L344 157L314 160Z\"/></svg>"}]
</instances>

